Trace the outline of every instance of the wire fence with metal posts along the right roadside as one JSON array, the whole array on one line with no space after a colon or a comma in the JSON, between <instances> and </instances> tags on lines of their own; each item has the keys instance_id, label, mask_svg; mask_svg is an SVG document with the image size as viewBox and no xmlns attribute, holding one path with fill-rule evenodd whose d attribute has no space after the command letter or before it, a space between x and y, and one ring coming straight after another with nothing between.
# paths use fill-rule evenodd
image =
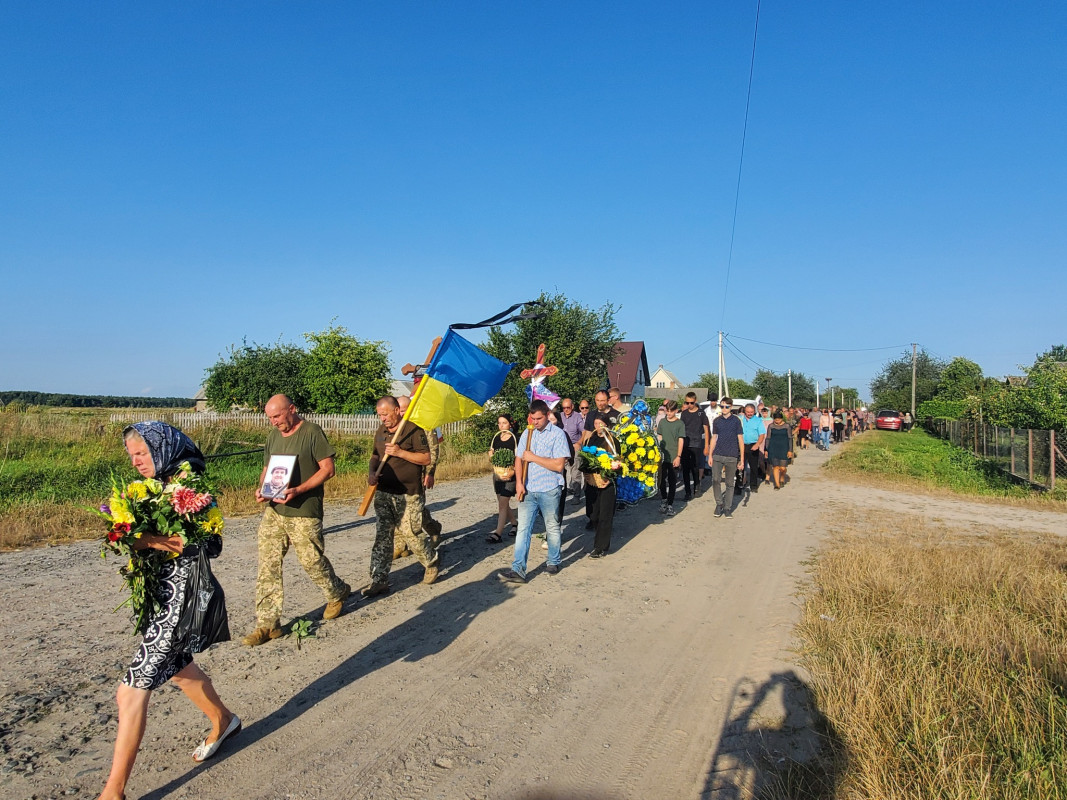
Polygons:
<instances>
[{"instance_id":1,"label":"wire fence with metal posts along the right roadside","mask_svg":"<svg viewBox=\"0 0 1067 800\"><path fill-rule=\"evenodd\" d=\"M1032 428L1001 428L970 419L924 420L923 427L935 436L970 450L994 464L1002 471L1049 491L1056 487L1056 476L1067 475L1064 445L1067 437L1055 431Z\"/></svg>"}]
</instances>

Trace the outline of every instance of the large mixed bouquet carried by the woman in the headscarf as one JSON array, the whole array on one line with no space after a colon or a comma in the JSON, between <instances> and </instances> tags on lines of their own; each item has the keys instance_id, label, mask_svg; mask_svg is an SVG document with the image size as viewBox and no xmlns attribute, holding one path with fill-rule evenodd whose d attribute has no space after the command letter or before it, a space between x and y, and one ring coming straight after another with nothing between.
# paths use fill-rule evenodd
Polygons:
<instances>
[{"instance_id":1,"label":"large mixed bouquet carried by the woman in the headscarf","mask_svg":"<svg viewBox=\"0 0 1067 800\"><path fill-rule=\"evenodd\" d=\"M155 478L142 478L120 486L112 479L111 496L99 508L90 509L108 524L100 557L114 553L129 558L118 570L129 597L118 608L130 607L138 634L145 631L148 620L159 610L156 601L159 567L177 554L155 548L139 550L133 547L134 542L144 533L156 533L180 537L188 546L203 544L209 537L221 533L222 512L214 494L208 480L186 462L177 477L166 484Z\"/></svg>"}]
</instances>

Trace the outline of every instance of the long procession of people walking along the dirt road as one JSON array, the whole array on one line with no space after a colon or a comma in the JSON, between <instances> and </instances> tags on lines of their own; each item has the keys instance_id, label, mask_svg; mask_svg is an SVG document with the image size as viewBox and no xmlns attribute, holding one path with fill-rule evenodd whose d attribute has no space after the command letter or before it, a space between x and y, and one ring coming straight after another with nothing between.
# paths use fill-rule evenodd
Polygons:
<instances>
[{"instance_id":1,"label":"long procession of people walking along the dirt road","mask_svg":"<svg viewBox=\"0 0 1067 800\"><path fill-rule=\"evenodd\" d=\"M433 485L439 457L439 435L405 422L408 398L383 397L378 401L380 420L371 452L368 484L373 494L377 527L370 551L369 581L363 597L391 591L392 562L412 554L424 567L424 583L439 575L437 545L441 524L426 508L426 490ZM285 395L272 397L266 415L273 430L265 449L264 467L255 492L265 503L258 530L258 573L255 591L255 626L242 643L258 647L283 635L282 564L291 547L308 577L321 589L323 620L339 617L353 591L334 571L325 555L322 535L323 486L335 473L335 450L322 429L305 420ZM686 395L681 407L664 401L651 432L660 458L655 487L659 511L673 516L679 490L683 502L703 493L710 477L715 499L713 515L731 518L738 505L747 505L761 486L781 490L789 483L787 469L797 450L809 442L829 449L831 441L846 441L867 427L865 412L844 409L765 406L735 403L723 397L705 412L695 394ZM625 422L630 406L618 389L598 391L592 400L575 403L564 398L555 409L542 400L529 406L522 432L506 414L497 417L497 431L489 448L494 465L492 490L497 500L495 526L487 542L501 544L505 533L514 539L512 563L499 578L525 583L535 524L544 525L547 550L544 572L556 575L562 566L562 523L570 498L584 503L586 528L594 531L589 556L600 559L611 551L612 529L626 506L619 501L616 483L595 471L583 471L579 450L595 448L612 464L621 447L614 431ZM652 442L652 439L649 439ZM146 478L164 484L180 468L202 470L204 458L184 433L163 422L143 422L126 431L125 444L133 466ZM293 459L289 481L273 485L268 474L271 458ZM191 465L191 466L190 466ZM652 468L652 467L650 467ZM649 479L649 486L653 483ZM650 492L653 490L649 490ZM517 508L512 507L512 500ZM517 513L516 513L517 512ZM218 541L216 541L218 540ZM206 550L210 558L222 550L218 535ZM241 729L240 718L214 692L210 679L194 663L193 654L228 639L228 627L210 640L196 631L175 634L189 586L189 565L198 548L176 535L145 534L138 548L174 554L162 561L155 597L158 611L149 621L141 644L117 691L118 732L114 759L100 798L122 798L145 730L149 693L173 682L204 711L211 730L194 750L193 761L211 758L225 740ZM206 561L204 561L206 563ZM221 598L221 589L220 589ZM223 611L223 613L225 613ZM192 644L191 642L195 642Z\"/></svg>"}]
</instances>

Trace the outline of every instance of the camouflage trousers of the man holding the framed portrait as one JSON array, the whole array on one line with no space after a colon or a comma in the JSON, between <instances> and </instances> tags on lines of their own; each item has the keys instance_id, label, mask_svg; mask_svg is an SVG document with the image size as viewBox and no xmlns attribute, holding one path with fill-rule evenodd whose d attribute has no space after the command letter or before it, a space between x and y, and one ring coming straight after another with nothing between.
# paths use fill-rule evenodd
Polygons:
<instances>
[{"instance_id":1,"label":"camouflage trousers of the man holding the framed portrait","mask_svg":"<svg viewBox=\"0 0 1067 800\"><path fill-rule=\"evenodd\" d=\"M322 521L306 516L282 516L267 509L259 523L259 573L256 576L256 627L275 627L282 619L282 561L297 551L300 565L322 590L327 603L339 601L349 586L338 578L322 541Z\"/></svg>"}]
</instances>

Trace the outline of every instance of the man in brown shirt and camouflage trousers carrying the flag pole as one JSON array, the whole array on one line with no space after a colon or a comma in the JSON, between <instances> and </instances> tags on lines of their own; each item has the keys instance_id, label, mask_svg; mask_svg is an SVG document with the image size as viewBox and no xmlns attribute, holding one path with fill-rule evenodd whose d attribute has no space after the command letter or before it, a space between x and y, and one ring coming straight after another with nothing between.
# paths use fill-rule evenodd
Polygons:
<instances>
[{"instance_id":1,"label":"man in brown shirt and camouflage trousers carrying the flag pole","mask_svg":"<svg viewBox=\"0 0 1067 800\"><path fill-rule=\"evenodd\" d=\"M426 567L423 582L432 583L437 579L437 550L423 529L423 467L430 463L426 432L411 422L402 422L400 406L393 396L386 395L379 400L377 412L382 423L375 434L367 482L378 486L375 493L378 528L370 550L370 583L362 590L365 597L389 591L394 532L398 528L401 541ZM380 474L379 465L382 467Z\"/></svg>"}]
</instances>

